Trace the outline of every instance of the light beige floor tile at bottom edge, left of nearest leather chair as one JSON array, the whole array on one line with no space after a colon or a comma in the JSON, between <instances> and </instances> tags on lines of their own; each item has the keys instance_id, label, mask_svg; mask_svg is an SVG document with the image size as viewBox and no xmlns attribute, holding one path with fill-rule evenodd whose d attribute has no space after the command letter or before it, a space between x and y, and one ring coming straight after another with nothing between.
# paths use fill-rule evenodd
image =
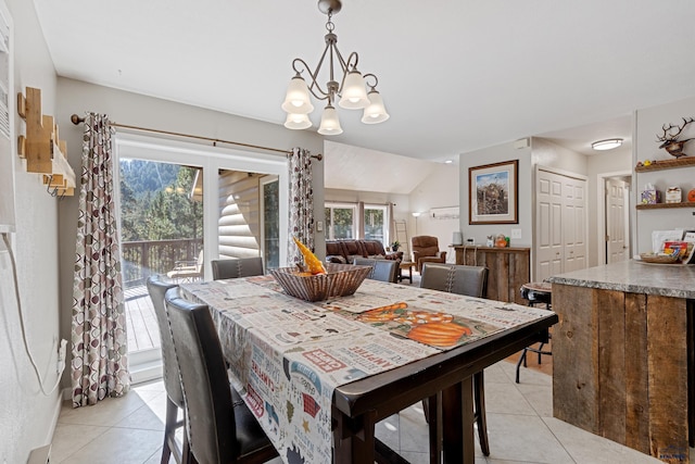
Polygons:
<instances>
[{"instance_id":1,"label":"light beige floor tile at bottom edge, left of nearest leather chair","mask_svg":"<svg viewBox=\"0 0 695 464\"><path fill-rule=\"evenodd\" d=\"M143 463L160 449L162 432L110 428L62 461L64 464Z\"/></svg>"}]
</instances>

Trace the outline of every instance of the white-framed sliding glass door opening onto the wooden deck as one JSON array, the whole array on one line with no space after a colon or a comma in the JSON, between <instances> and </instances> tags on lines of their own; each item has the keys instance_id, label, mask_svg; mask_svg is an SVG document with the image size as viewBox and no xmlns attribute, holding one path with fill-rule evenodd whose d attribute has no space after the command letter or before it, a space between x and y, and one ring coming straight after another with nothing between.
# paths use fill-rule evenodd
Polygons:
<instances>
[{"instance_id":1,"label":"white-framed sliding glass door opening onto the wooden deck","mask_svg":"<svg viewBox=\"0 0 695 464\"><path fill-rule=\"evenodd\" d=\"M285 265L289 180L283 156L151 137L118 135L116 156L130 371L141 381L161 375L146 279L211 279L211 260L248 255Z\"/></svg>"}]
</instances>

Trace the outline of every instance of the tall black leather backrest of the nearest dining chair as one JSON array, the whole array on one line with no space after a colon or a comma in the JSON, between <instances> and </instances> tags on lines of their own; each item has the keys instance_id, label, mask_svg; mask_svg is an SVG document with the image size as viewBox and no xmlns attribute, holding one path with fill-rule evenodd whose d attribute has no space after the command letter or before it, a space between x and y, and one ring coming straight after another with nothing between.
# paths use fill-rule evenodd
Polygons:
<instances>
[{"instance_id":1,"label":"tall black leather backrest of the nearest dining chair","mask_svg":"<svg viewBox=\"0 0 695 464\"><path fill-rule=\"evenodd\" d=\"M165 306L186 396L188 439L199 463L231 463L239 454L227 368L210 309L169 289Z\"/></svg>"}]
</instances>

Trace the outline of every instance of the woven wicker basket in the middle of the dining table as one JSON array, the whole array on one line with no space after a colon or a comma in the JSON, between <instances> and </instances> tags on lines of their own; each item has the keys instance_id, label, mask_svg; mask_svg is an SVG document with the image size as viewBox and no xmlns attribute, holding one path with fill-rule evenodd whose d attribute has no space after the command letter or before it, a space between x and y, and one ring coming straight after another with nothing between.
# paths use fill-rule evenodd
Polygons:
<instances>
[{"instance_id":1,"label":"woven wicker basket in the middle of the dining table","mask_svg":"<svg viewBox=\"0 0 695 464\"><path fill-rule=\"evenodd\" d=\"M270 269L270 274L288 294L306 301L320 301L353 294L371 272L371 266L328 263L326 271L328 274L303 276L294 267L279 267Z\"/></svg>"}]
</instances>

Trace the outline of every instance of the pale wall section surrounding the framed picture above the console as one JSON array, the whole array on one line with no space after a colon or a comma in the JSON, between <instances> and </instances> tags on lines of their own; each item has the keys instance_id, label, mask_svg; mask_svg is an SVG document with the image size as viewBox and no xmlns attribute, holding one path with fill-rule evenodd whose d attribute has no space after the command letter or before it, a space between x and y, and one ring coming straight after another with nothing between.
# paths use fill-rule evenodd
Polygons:
<instances>
[{"instance_id":1,"label":"pale wall section surrounding the framed picture above the console","mask_svg":"<svg viewBox=\"0 0 695 464\"><path fill-rule=\"evenodd\" d=\"M517 216L519 224L500 224L500 225L470 225L468 211L469 211L469 181L468 170L470 167L480 166L484 164L501 163L503 161L519 160L519 210ZM531 208L531 192L532 192L532 166L531 166L531 147L517 149L514 147L514 142L507 142L497 145L494 147L476 150L469 153L463 153L459 158L459 174L460 174L460 229L464 233L464 241L468 238L473 238L477 244L484 244L489 235L496 236L497 234L504 234L506 237L511 237L511 229L521 229L521 238L510 240L511 247L531 247L532 240L532 208ZM451 240L451 238L450 238Z\"/></svg>"}]
</instances>

